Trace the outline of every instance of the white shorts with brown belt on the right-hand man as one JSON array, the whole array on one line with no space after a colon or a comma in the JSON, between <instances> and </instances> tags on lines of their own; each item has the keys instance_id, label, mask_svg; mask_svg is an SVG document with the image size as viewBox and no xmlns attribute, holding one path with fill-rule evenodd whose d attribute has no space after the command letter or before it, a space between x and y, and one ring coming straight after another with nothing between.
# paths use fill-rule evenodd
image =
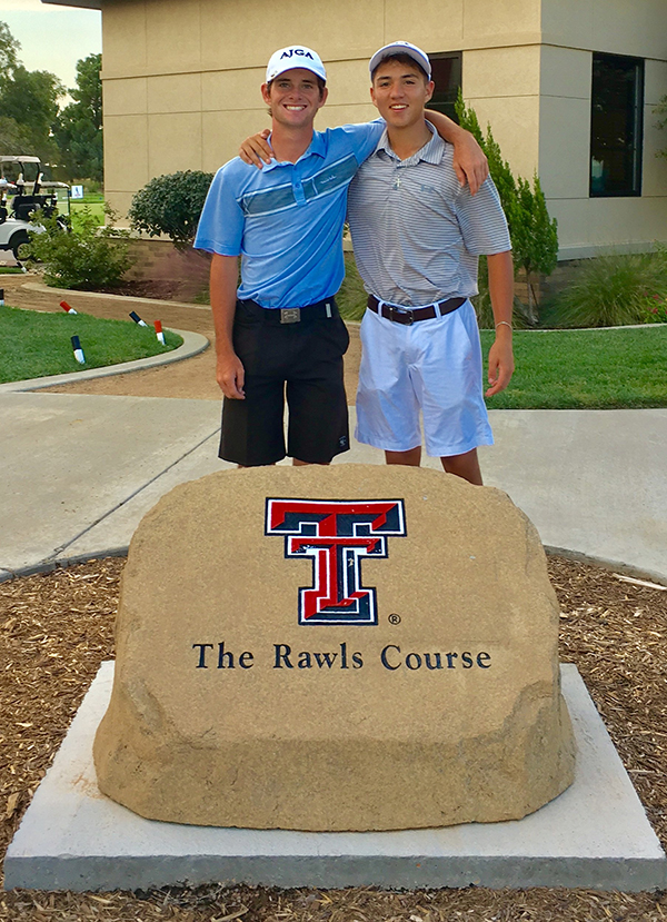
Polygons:
<instances>
[{"instance_id":1,"label":"white shorts with brown belt on the right-hand man","mask_svg":"<svg viewBox=\"0 0 667 922\"><path fill-rule=\"evenodd\" d=\"M361 321L356 438L385 452L450 457L492 445L484 403L481 347L475 308L411 326L367 310Z\"/></svg>"}]
</instances>

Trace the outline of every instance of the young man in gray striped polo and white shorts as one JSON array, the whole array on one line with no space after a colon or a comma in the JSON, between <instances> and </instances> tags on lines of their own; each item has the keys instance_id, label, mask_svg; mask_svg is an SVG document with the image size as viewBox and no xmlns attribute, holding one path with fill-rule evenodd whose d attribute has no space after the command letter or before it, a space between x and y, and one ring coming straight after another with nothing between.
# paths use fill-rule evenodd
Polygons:
<instances>
[{"instance_id":1,"label":"young man in gray striped polo and white shorts","mask_svg":"<svg viewBox=\"0 0 667 922\"><path fill-rule=\"evenodd\" d=\"M388 464L418 466L421 410L427 453L448 473L481 484L477 446L492 444L492 435L469 298L484 254L496 321L491 396L514 371L507 221L490 179L474 197L461 188L451 146L425 120L434 91L427 54L394 42L374 54L370 72L371 99L387 128L348 198L355 257L369 293L356 436L384 449Z\"/></svg>"}]
</instances>

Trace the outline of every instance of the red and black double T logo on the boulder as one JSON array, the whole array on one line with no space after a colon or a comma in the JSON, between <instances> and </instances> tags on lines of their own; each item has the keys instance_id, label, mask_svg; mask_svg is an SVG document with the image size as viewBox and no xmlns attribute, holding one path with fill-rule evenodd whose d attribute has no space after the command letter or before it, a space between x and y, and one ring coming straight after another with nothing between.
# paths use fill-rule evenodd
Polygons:
<instances>
[{"instance_id":1,"label":"red and black double T logo on the boulder","mask_svg":"<svg viewBox=\"0 0 667 922\"><path fill-rule=\"evenodd\" d=\"M286 557L311 557L313 585L299 589L299 624L377 624L376 591L361 559L387 557L404 537L402 499L267 499L267 535L285 536Z\"/></svg>"}]
</instances>

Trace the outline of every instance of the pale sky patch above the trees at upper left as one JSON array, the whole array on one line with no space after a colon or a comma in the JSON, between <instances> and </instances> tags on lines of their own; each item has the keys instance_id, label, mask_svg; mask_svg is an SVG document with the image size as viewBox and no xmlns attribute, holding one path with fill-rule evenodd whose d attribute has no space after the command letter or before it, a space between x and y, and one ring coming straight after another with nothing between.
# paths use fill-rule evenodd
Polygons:
<instances>
[{"instance_id":1,"label":"pale sky patch above the trees at upper left","mask_svg":"<svg viewBox=\"0 0 667 922\"><path fill-rule=\"evenodd\" d=\"M66 87L76 86L77 61L102 50L99 10L0 0L0 22L21 42L19 58L28 70L50 70Z\"/></svg>"}]
</instances>

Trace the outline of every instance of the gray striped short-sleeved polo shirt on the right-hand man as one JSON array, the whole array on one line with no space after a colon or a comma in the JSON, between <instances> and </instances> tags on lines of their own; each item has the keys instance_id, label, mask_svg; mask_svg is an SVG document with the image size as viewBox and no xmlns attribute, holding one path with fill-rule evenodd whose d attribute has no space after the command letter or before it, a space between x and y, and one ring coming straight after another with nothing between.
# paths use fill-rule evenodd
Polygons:
<instances>
[{"instance_id":1,"label":"gray striped short-sleeved polo shirt on the right-hand man","mask_svg":"<svg viewBox=\"0 0 667 922\"><path fill-rule=\"evenodd\" d=\"M478 257L511 248L490 177L471 196L459 185L452 155L434 132L421 150L399 160L385 130L352 180L355 258L366 290L380 300L417 307L471 297Z\"/></svg>"}]
</instances>

